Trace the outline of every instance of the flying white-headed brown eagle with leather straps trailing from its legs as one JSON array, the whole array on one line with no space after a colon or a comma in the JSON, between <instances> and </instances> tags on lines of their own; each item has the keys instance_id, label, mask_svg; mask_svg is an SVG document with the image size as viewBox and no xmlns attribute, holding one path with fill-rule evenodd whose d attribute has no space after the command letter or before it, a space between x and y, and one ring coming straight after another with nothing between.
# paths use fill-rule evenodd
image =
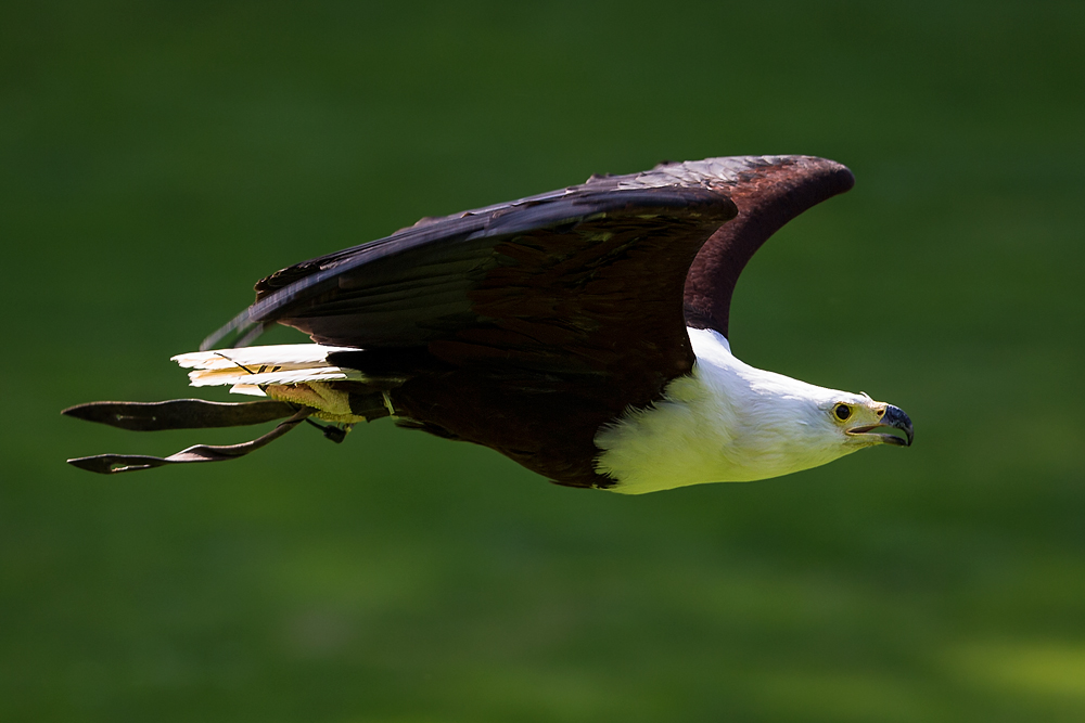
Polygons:
<instances>
[{"instance_id":1,"label":"flying white-headed brown eagle with leather straps trailing from its legs","mask_svg":"<svg viewBox=\"0 0 1085 723\"><path fill-rule=\"evenodd\" d=\"M359 422L488 447L570 487L640 494L808 469L911 421L866 393L731 353L739 274L795 216L854 184L810 156L663 163L445 217L282 269L196 352L192 386L263 399L91 402L64 414L135 430L282 419L232 446L68 460L115 474L243 456L303 422ZM250 346L273 324L312 344Z\"/></svg>"}]
</instances>

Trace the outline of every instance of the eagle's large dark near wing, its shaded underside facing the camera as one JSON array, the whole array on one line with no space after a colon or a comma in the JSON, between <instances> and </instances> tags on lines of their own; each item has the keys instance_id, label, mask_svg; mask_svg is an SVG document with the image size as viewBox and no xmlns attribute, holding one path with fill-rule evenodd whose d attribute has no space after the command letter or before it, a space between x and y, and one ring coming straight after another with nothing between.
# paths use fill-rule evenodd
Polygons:
<instances>
[{"instance_id":1,"label":"eagle's large dark near wing, its shaded underside facing the camera","mask_svg":"<svg viewBox=\"0 0 1085 723\"><path fill-rule=\"evenodd\" d=\"M693 360L686 271L737 209L702 183L625 189L623 178L427 220L291 267L260 281L256 304L209 340L282 323L328 345L668 380Z\"/></svg>"}]
</instances>

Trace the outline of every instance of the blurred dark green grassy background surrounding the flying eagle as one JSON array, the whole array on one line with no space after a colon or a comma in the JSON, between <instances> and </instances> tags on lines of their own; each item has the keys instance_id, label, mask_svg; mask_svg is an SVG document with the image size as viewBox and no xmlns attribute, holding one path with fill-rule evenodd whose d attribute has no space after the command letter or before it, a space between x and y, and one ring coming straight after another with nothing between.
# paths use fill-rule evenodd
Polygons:
<instances>
[{"instance_id":1,"label":"blurred dark green grassy background surrounding the flying eagle","mask_svg":"<svg viewBox=\"0 0 1085 723\"><path fill-rule=\"evenodd\" d=\"M5 7L0 720L1085 720L1085 5L401 4ZM910 450L631 499L386 421L63 463L247 439L59 411L188 395L280 267L763 153L857 185L736 353Z\"/></svg>"}]
</instances>

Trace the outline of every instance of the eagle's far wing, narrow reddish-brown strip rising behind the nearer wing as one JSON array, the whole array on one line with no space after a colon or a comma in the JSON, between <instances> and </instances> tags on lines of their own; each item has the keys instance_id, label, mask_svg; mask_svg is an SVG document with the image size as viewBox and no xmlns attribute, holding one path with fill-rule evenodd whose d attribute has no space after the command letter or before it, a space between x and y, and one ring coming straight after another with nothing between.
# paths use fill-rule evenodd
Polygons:
<instances>
[{"instance_id":1,"label":"eagle's far wing, narrow reddish-brown strip rising behind the nearer wing","mask_svg":"<svg viewBox=\"0 0 1085 723\"><path fill-rule=\"evenodd\" d=\"M784 223L838 193L855 178L844 166L809 156L740 156L655 169L663 175L700 168L719 179L739 208L738 218L722 227L701 247L686 276L686 323L728 335L731 295L754 253Z\"/></svg>"}]
</instances>

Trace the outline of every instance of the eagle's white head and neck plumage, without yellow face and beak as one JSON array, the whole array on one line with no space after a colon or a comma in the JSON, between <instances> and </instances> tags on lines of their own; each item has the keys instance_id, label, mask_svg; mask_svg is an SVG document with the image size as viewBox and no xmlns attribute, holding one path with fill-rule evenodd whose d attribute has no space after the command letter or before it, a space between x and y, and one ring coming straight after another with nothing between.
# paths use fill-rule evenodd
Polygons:
<instances>
[{"instance_id":1,"label":"eagle's white head and neck plumage, without yellow face and beak","mask_svg":"<svg viewBox=\"0 0 1085 723\"><path fill-rule=\"evenodd\" d=\"M854 451L839 443L826 410L846 392L754 369L720 334L689 328L692 372L652 406L596 436L597 468L615 492L641 494L703 482L745 482L808 469ZM847 395L852 397L852 395Z\"/></svg>"}]
</instances>

